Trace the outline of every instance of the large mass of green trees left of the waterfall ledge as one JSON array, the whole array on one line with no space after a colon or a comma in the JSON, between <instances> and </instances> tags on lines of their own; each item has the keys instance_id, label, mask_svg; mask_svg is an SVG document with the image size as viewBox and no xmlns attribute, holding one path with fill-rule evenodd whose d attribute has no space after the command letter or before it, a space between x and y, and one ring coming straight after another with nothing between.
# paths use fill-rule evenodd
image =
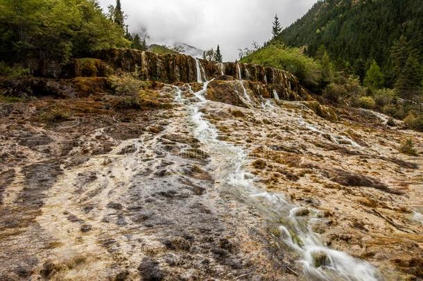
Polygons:
<instances>
[{"instance_id":1,"label":"large mass of green trees left of the waterfall ledge","mask_svg":"<svg viewBox=\"0 0 423 281\"><path fill-rule=\"evenodd\" d=\"M128 46L121 28L94 0L8 0L0 3L0 60L47 67L98 49Z\"/></svg>"}]
</instances>

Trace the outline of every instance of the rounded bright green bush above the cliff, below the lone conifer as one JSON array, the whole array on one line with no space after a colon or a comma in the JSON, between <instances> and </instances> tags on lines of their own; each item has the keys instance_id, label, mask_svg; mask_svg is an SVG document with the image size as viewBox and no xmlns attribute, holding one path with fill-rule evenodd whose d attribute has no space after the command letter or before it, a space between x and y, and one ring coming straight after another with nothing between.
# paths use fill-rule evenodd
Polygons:
<instances>
[{"instance_id":1,"label":"rounded bright green bush above the cliff, below the lone conifer","mask_svg":"<svg viewBox=\"0 0 423 281\"><path fill-rule=\"evenodd\" d=\"M283 44L268 44L241 60L245 63L266 65L291 72L300 83L309 90L321 87L322 67L298 48L289 48Z\"/></svg>"}]
</instances>

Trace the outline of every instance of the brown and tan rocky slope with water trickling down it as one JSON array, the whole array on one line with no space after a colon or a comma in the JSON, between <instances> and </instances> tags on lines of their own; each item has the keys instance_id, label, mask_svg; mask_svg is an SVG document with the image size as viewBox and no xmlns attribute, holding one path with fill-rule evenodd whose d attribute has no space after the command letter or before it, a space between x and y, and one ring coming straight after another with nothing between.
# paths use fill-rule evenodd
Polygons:
<instances>
[{"instance_id":1,"label":"brown and tan rocky slope with water trickling down it","mask_svg":"<svg viewBox=\"0 0 423 281\"><path fill-rule=\"evenodd\" d=\"M422 278L423 158L397 151L420 133L271 68L65 70L1 80L0 280Z\"/></svg>"}]
</instances>

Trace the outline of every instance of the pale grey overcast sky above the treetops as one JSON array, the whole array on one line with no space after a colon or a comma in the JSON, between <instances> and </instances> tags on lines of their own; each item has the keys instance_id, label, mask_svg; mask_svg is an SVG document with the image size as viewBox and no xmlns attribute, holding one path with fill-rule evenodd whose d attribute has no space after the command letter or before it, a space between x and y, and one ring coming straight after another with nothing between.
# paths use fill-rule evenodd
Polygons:
<instances>
[{"instance_id":1,"label":"pale grey overcast sky above the treetops","mask_svg":"<svg viewBox=\"0 0 423 281\"><path fill-rule=\"evenodd\" d=\"M146 29L149 44L184 42L200 49L220 44L224 60L271 37L275 13L286 27L317 0L121 0L131 33ZM104 10L115 0L100 0Z\"/></svg>"}]
</instances>

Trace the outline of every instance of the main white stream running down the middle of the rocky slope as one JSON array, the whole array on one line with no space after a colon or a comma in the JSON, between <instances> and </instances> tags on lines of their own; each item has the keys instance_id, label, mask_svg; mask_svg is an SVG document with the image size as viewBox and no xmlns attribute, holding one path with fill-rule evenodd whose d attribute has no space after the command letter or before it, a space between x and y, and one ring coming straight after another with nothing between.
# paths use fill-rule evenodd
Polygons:
<instances>
[{"instance_id":1,"label":"main white stream running down the middle of the rocky slope","mask_svg":"<svg viewBox=\"0 0 423 281\"><path fill-rule=\"evenodd\" d=\"M282 194L262 190L257 178L248 173L248 155L243 148L218 140L218 131L203 118L200 107L207 103L203 96L207 83L195 93L197 103L187 104L193 133L205 145L218 173L222 174L221 188L239 197L278 224L279 236L284 243L300 256L304 274L311 280L383 280L381 275L367 262L356 259L338 250L325 246L320 236L313 232L313 225L324 218L318 210L308 210L308 216L300 216L303 207L288 201ZM175 100L182 101L177 92ZM304 212L303 212L304 214Z\"/></svg>"}]
</instances>

